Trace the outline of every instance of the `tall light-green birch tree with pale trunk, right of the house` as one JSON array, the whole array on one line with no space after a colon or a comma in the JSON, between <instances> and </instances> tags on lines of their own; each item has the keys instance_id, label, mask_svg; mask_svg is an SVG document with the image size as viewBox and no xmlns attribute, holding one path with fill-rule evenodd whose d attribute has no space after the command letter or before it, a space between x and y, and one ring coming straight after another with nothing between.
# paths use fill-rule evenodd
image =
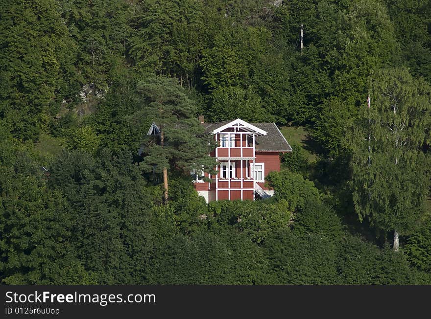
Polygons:
<instances>
[{"instance_id":1,"label":"tall light-green birch tree with pale trunk, right of the house","mask_svg":"<svg viewBox=\"0 0 431 319\"><path fill-rule=\"evenodd\" d=\"M359 220L407 235L423 213L430 165L421 147L429 141L431 88L405 68L370 77L371 102L350 135L353 201Z\"/></svg>"}]
</instances>

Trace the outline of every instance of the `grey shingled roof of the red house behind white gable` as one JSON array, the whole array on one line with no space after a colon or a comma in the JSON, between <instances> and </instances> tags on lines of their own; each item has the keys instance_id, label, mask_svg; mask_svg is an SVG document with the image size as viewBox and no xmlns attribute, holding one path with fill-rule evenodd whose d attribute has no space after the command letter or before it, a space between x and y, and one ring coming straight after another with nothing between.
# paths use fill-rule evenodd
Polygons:
<instances>
[{"instance_id":1,"label":"grey shingled roof of the red house behind white gable","mask_svg":"<svg viewBox=\"0 0 431 319\"><path fill-rule=\"evenodd\" d=\"M223 121L223 122L217 122L217 123L202 123L202 125L205 127L206 133L211 133L212 131L216 130L217 128L228 124L232 122L232 120L229 121ZM251 125L254 125L263 131L266 131L266 135L264 136L257 136L256 141L256 151L266 151L266 152L291 152L292 147L287 142L286 138L281 134L280 130L278 129L277 125L275 123L250 123Z\"/></svg>"}]
</instances>

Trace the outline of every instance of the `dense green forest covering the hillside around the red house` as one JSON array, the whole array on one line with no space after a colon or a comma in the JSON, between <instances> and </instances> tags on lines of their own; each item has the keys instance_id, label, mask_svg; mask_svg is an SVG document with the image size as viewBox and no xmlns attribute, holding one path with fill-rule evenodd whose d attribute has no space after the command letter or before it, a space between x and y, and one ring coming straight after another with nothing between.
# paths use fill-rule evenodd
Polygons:
<instances>
[{"instance_id":1,"label":"dense green forest covering the hillside around the red house","mask_svg":"<svg viewBox=\"0 0 431 319\"><path fill-rule=\"evenodd\" d=\"M2 284L431 284L429 0L0 8ZM198 196L201 114L306 132L275 196Z\"/></svg>"}]
</instances>

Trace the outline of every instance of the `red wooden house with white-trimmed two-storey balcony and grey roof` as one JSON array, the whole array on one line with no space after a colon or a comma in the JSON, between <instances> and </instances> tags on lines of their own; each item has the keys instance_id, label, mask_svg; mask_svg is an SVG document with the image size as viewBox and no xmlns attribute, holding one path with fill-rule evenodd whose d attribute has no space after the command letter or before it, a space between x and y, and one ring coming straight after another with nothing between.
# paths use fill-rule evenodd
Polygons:
<instances>
[{"instance_id":1,"label":"red wooden house with white-trimmed two-storey balcony and grey roof","mask_svg":"<svg viewBox=\"0 0 431 319\"><path fill-rule=\"evenodd\" d=\"M275 123L233 121L203 123L206 133L217 142L210 154L219 163L216 175L195 174L195 189L207 202L217 200L254 200L274 194L265 187L265 176L280 171L280 153L292 148ZM205 182L203 176L211 182Z\"/></svg>"}]
</instances>

